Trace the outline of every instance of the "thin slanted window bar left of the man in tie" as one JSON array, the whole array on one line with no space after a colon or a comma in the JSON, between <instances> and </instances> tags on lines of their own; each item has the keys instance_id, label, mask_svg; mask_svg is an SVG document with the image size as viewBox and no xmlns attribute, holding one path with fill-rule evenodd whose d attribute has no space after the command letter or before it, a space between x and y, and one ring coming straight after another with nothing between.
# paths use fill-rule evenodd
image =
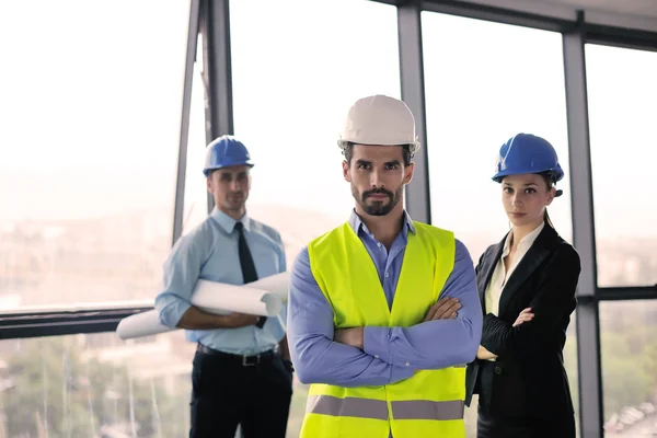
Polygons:
<instances>
[{"instance_id":1,"label":"thin slanted window bar left of the man in tie","mask_svg":"<svg viewBox=\"0 0 657 438\"><path fill-rule=\"evenodd\" d=\"M173 208L172 245L183 233L185 215L185 180L187 175L187 141L189 139L189 115L192 114L192 83L194 79L194 61L198 42L198 9L200 0L189 1L189 26L187 30L187 53L185 54L185 76L183 79L183 105L181 114L181 131L178 142L178 162L175 184L175 201Z\"/></svg>"}]
</instances>

